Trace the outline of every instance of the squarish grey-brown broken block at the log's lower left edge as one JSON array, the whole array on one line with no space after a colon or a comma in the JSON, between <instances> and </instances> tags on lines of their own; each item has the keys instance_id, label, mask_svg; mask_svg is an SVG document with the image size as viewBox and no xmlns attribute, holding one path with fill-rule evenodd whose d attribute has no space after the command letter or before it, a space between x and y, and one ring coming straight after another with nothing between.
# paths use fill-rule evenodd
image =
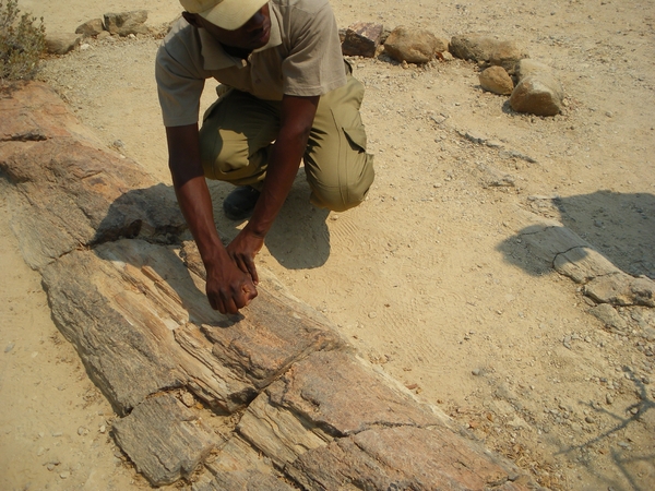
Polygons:
<instances>
[{"instance_id":1,"label":"squarish grey-brown broken block at the log's lower left edge","mask_svg":"<svg viewBox=\"0 0 655 491\"><path fill-rule=\"evenodd\" d=\"M210 428L169 394L140 404L114 423L114 434L154 486L189 477L219 443Z\"/></svg>"}]
</instances>

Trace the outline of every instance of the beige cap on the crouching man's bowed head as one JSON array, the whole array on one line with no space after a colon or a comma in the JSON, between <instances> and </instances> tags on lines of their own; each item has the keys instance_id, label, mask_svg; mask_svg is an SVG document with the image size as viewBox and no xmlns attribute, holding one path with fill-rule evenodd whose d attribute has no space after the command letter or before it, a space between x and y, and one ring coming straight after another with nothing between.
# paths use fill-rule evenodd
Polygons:
<instances>
[{"instance_id":1,"label":"beige cap on the crouching man's bowed head","mask_svg":"<svg viewBox=\"0 0 655 491\"><path fill-rule=\"evenodd\" d=\"M196 13L227 31L241 27L269 0L180 0L187 12Z\"/></svg>"}]
</instances>

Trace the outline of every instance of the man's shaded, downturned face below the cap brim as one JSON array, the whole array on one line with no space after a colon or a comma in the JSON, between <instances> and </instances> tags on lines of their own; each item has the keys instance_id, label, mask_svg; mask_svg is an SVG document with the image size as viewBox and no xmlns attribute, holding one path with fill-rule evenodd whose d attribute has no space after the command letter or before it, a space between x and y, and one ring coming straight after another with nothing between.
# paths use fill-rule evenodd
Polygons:
<instances>
[{"instance_id":1,"label":"man's shaded, downturned face below the cap brim","mask_svg":"<svg viewBox=\"0 0 655 491\"><path fill-rule=\"evenodd\" d=\"M187 21L190 21L184 15ZM218 43L234 48L241 48L252 51L259 49L269 43L271 37L271 12L269 4L262 7L250 20L241 27L235 31L227 31L211 22L204 20L200 15L193 15L195 22L191 22L198 27L204 28Z\"/></svg>"}]
</instances>

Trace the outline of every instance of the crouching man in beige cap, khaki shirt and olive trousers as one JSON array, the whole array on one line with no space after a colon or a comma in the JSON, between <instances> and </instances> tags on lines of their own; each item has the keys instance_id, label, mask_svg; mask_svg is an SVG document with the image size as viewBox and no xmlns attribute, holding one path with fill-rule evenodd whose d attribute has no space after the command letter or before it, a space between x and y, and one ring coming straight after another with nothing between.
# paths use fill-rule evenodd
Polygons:
<instances>
[{"instance_id":1,"label":"crouching man in beige cap, khaki shirt and olive trousers","mask_svg":"<svg viewBox=\"0 0 655 491\"><path fill-rule=\"evenodd\" d=\"M257 297L254 256L305 161L315 206L345 211L373 181L372 156L327 0L180 0L156 80L177 199L207 273L210 304ZM204 81L221 82L199 129ZM205 178L231 182L223 209L250 216L225 248Z\"/></svg>"}]
</instances>

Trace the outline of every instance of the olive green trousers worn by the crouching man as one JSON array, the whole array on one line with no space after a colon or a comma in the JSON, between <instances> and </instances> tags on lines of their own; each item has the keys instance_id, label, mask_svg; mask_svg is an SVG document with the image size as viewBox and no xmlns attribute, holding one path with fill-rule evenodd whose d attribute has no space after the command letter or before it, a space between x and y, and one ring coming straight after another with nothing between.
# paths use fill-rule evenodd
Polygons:
<instances>
[{"instance_id":1,"label":"olive green trousers worn by the crouching man","mask_svg":"<svg viewBox=\"0 0 655 491\"><path fill-rule=\"evenodd\" d=\"M222 88L222 86L219 86ZM364 86L348 75L345 86L323 95L303 156L310 201L342 212L364 201L373 182L359 108ZM279 131L282 103L227 89L206 111L200 130L205 177L261 189L269 148Z\"/></svg>"}]
</instances>

